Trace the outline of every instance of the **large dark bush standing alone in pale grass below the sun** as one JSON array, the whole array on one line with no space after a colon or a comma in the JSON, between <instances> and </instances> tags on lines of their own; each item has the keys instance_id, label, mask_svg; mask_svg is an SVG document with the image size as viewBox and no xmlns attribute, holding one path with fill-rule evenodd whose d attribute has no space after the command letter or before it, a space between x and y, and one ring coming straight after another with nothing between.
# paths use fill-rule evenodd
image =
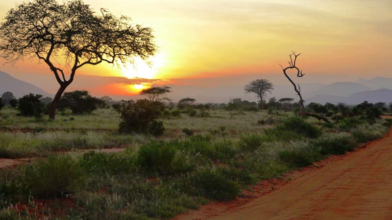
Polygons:
<instances>
[{"instance_id":1,"label":"large dark bush standing alone in pale grass below the sun","mask_svg":"<svg viewBox=\"0 0 392 220\"><path fill-rule=\"evenodd\" d=\"M156 119L164 110L161 102L150 102L146 99L123 102L120 110L120 132L162 134L163 123Z\"/></svg>"}]
</instances>

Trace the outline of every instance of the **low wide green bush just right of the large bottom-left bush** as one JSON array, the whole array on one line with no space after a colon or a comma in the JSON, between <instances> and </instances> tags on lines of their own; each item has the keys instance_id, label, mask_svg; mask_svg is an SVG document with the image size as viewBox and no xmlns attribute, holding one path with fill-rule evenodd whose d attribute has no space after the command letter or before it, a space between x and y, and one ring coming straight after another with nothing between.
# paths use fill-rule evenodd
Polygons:
<instances>
[{"instance_id":1,"label":"low wide green bush just right of the large bottom-left bush","mask_svg":"<svg viewBox=\"0 0 392 220\"><path fill-rule=\"evenodd\" d=\"M96 153L90 151L83 154L81 167L86 173L119 174L129 172L132 160L124 154Z\"/></svg>"}]
</instances>

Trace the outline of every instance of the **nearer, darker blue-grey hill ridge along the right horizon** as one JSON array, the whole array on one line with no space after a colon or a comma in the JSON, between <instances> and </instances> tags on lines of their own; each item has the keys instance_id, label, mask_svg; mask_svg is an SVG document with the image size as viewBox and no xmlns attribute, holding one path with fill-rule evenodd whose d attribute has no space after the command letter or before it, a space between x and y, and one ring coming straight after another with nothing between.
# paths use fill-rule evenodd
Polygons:
<instances>
[{"instance_id":1,"label":"nearer, darker blue-grey hill ridge along the right horizon","mask_svg":"<svg viewBox=\"0 0 392 220\"><path fill-rule=\"evenodd\" d=\"M346 103L346 104L359 104L363 101L368 101L370 103L377 103L377 102L392 102L392 90L388 88L381 88L377 90L370 90L370 91L362 91L357 92L349 97L343 96L334 96L334 95L315 95L311 98L305 99L305 103L309 104L311 102L325 104L326 102L330 102L333 104L337 104L339 102Z\"/></svg>"}]
</instances>

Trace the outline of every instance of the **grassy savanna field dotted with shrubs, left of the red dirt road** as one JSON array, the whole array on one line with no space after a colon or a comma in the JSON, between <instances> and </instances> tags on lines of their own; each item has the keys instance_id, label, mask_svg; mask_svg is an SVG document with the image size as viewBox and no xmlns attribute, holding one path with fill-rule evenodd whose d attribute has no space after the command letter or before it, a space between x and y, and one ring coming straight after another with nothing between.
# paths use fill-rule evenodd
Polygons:
<instances>
[{"instance_id":1,"label":"grassy savanna field dotted with shrubs, left of the red dirt road","mask_svg":"<svg viewBox=\"0 0 392 220\"><path fill-rule=\"evenodd\" d=\"M211 110L163 118L164 135L153 137L119 134L109 109L55 121L16 113L1 111L0 157L42 158L0 170L0 220L170 219L390 130L383 119L324 124L292 112ZM102 148L125 150L79 151Z\"/></svg>"}]
</instances>

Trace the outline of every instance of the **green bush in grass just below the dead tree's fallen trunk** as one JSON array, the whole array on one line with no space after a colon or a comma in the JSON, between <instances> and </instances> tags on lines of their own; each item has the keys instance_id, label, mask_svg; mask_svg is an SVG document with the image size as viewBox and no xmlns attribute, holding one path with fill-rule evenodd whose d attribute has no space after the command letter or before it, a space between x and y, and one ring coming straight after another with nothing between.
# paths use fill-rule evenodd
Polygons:
<instances>
[{"instance_id":1,"label":"green bush in grass just below the dead tree's fallen trunk","mask_svg":"<svg viewBox=\"0 0 392 220\"><path fill-rule=\"evenodd\" d=\"M321 132L312 124L306 122L302 117L291 117L283 120L280 129L292 131L308 138L316 138Z\"/></svg>"}]
</instances>

